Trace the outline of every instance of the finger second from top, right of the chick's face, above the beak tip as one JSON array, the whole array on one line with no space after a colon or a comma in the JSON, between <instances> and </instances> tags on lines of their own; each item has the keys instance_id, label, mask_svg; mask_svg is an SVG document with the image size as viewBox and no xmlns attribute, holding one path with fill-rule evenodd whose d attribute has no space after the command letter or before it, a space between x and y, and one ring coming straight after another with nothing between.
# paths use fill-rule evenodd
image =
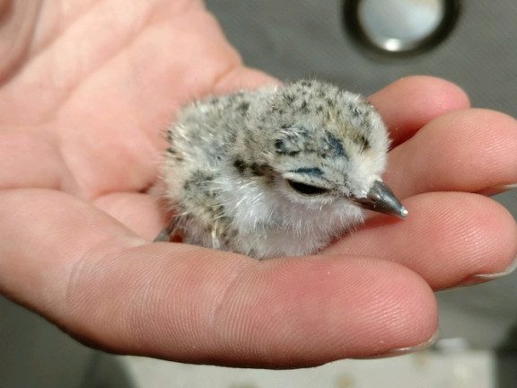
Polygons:
<instances>
[{"instance_id":1,"label":"finger second from top, right of the chick's face, above the beak tip","mask_svg":"<svg viewBox=\"0 0 517 388\"><path fill-rule=\"evenodd\" d=\"M491 110L432 120L390 152L385 180L401 197L486 191L517 182L517 121Z\"/></svg>"}]
</instances>

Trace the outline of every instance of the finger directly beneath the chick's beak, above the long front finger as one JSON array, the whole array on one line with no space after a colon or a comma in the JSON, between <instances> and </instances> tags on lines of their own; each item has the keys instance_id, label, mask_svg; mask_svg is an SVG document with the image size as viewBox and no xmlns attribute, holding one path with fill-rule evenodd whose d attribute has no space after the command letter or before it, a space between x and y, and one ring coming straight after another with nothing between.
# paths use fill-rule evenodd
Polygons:
<instances>
[{"instance_id":1,"label":"finger directly beneath the chick's beak, above the long front finger","mask_svg":"<svg viewBox=\"0 0 517 388\"><path fill-rule=\"evenodd\" d=\"M434 289L456 286L472 275L501 272L517 255L515 221L490 198L433 192L407 198L404 206L407 219L372 218L325 253L395 261Z\"/></svg>"}]
</instances>

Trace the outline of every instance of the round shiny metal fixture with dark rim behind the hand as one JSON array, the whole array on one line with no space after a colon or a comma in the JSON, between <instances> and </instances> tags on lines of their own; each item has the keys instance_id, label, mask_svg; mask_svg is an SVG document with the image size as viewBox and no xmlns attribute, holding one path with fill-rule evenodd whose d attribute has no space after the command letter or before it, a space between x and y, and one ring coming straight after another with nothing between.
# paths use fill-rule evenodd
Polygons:
<instances>
[{"instance_id":1,"label":"round shiny metal fixture with dark rim behind the hand","mask_svg":"<svg viewBox=\"0 0 517 388\"><path fill-rule=\"evenodd\" d=\"M433 48L452 31L459 0L346 0L344 21L364 48L390 55Z\"/></svg>"}]
</instances>

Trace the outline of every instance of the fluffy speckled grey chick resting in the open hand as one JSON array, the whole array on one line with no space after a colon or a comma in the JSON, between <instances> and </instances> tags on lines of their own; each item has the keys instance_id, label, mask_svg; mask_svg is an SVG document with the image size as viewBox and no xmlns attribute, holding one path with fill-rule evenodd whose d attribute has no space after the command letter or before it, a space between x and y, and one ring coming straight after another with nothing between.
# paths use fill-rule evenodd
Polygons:
<instances>
[{"instance_id":1,"label":"fluffy speckled grey chick resting in the open hand","mask_svg":"<svg viewBox=\"0 0 517 388\"><path fill-rule=\"evenodd\" d=\"M315 80L196 101L168 130L174 218L158 240L257 259L320 250L364 220L405 217L381 182L390 140L359 95Z\"/></svg>"}]
</instances>

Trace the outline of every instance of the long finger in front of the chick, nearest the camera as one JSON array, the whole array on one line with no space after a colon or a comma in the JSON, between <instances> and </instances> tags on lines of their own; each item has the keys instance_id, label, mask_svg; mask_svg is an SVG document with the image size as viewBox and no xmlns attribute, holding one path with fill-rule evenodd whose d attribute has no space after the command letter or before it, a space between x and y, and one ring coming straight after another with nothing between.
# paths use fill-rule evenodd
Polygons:
<instances>
[{"instance_id":1,"label":"long finger in front of the chick, nearest the camera","mask_svg":"<svg viewBox=\"0 0 517 388\"><path fill-rule=\"evenodd\" d=\"M311 366L428 340L434 295L385 260L258 261L146 244L65 194L0 194L0 287L75 337L120 353ZM349 259L349 260L348 260Z\"/></svg>"}]
</instances>

